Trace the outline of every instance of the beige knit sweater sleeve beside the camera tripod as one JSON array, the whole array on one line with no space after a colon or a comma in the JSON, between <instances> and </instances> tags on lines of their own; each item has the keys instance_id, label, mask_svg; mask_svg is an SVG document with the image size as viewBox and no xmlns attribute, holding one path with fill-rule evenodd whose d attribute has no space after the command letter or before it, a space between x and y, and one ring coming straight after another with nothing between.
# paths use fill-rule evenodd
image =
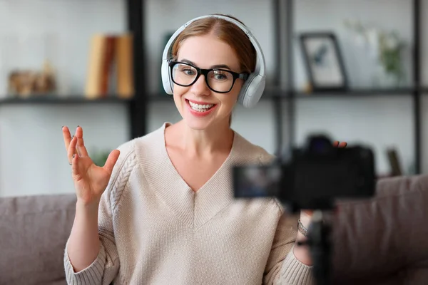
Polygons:
<instances>
[{"instance_id":1,"label":"beige knit sweater sleeve beside the camera tripod","mask_svg":"<svg viewBox=\"0 0 428 285\"><path fill-rule=\"evenodd\" d=\"M297 219L297 216L288 214L282 214L280 217L267 260L263 284L315 284L312 278L312 266L302 264L292 252L297 237Z\"/></svg>"}]
</instances>

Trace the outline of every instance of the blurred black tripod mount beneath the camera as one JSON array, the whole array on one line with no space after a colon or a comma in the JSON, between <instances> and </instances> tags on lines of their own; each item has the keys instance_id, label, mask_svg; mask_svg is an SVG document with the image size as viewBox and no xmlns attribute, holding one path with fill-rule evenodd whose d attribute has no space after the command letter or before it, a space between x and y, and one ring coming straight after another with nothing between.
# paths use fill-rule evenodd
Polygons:
<instances>
[{"instance_id":1,"label":"blurred black tripod mount beneath the camera","mask_svg":"<svg viewBox=\"0 0 428 285\"><path fill-rule=\"evenodd\" d=\"M322 221L322 212L315 211L308 229L306 242L298 245L308 245L313 263L315 284L330 285L332 267L332 244L330 242L331 227Z\"/></svg>"}]
</instances>

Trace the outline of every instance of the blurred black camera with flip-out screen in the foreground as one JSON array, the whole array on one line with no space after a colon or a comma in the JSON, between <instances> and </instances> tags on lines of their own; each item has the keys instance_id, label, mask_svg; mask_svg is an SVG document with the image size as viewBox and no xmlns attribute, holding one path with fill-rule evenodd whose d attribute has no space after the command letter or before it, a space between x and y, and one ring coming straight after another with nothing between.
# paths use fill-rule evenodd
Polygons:
<instances>
[{"instance_id":1,"label":"blurred black camera with flip-out screen in the foreground","mask_svg":"<svg viewBox=\"0 0 428 285\"><path fill-rule=\"evenodd\" d=\"M372 197L376 175L368 147L335 147L325 135L311 135L287 159L233 169L235 198L277 197L290 212L328 210L335 199Z\"/></svg>"}]
</instances>

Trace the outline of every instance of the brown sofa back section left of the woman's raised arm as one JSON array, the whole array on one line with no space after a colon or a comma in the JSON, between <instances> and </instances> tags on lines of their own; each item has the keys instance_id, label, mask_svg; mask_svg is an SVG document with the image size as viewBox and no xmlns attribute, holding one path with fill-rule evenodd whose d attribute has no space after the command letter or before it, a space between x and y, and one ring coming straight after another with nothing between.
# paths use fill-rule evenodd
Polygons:
<instances>
[{"instance_id":1,"label":"brown sofa back section left of the woman's raised arm","mask_svg":"<svg viewBox=\"0 0 428 285\"><path fill-rule=\"evenodd\" d=\"M0 199L0 284L66 284L63 251L76 195Z\"/></svg>"}]
</instances>

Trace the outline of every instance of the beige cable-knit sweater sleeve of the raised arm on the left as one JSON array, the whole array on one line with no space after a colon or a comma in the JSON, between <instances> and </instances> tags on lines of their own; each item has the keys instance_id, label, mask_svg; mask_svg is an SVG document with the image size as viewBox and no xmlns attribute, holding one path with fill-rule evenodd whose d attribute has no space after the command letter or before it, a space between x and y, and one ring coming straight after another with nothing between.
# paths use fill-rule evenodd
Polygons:
<instances>
[{"instance_id":1,"label":"beige cable-knit sweater sleeve of the raised arm on the left","mask_svg":"<svg viewBox=\"0 0 428 285\"><path fill-rule=\"evenodd\" d=\"M135 154L123 151L128 145L118 147L121 155L113 168L106 191L101 195L98 208L98 236L100 249L96 259L86 269L75 272L68 258L68 242L64 254L66 281L70 285L108 285L116 279L120 267L118 249L113 230L113 217L123 190L135 165Z\"/></svg>"}]
</instances>

